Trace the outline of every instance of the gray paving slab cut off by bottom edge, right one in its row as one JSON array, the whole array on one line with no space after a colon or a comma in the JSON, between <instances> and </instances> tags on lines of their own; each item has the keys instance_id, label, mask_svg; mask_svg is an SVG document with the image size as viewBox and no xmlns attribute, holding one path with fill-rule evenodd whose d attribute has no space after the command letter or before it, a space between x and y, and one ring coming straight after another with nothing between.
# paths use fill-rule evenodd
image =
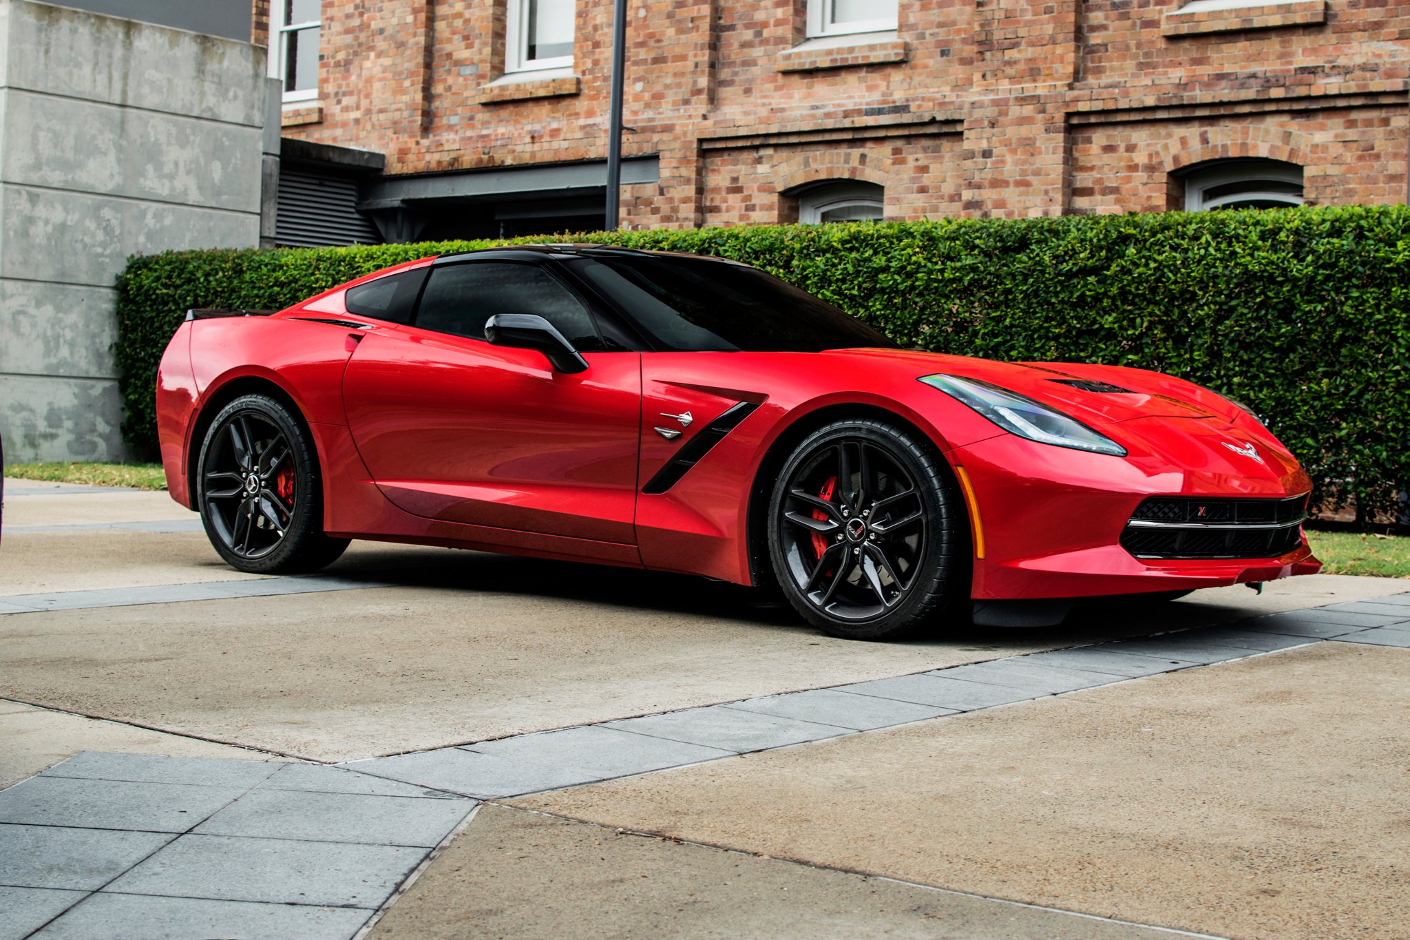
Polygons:
<instances>
[{"instance_id":1,"label":"gray paving slab cut off by bottom edge, right one in its row","mask_svg":"<svg viewBox=\"0 0 1410 940\"><path fill-rule=\"evenodd\" d=\"M96 893L51 923L44 940L347 940L372 912L248 901Z\"/></svg>"}]
</instances>

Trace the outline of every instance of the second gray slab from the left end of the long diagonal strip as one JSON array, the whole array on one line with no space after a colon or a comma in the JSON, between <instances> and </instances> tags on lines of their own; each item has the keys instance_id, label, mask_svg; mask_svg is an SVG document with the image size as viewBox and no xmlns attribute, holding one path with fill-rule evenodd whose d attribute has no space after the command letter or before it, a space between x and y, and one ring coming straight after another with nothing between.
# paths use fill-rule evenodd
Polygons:
<instances>
[{"instance_id":1,"label":"second gray slab from the left end of the long diagonal strip","mask_svg":"<svg viewBox=\"0 0 1410 940\"><path fill-rule=\"evenodd\" d=\"M732 750L632 734L601 724L481 741L467 744L464 750L510 761L577 768L602 778L646 774L735 754Z\"/></svg>"}]
</instances>

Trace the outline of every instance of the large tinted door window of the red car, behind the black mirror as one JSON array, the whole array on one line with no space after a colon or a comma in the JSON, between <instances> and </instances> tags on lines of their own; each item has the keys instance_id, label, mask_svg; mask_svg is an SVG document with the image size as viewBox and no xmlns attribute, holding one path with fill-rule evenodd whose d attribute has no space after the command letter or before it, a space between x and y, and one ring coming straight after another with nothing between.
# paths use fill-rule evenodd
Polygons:
<instances>
[{"instance_id":1,"label":"large tinted door window of the red car, behind the black mirror","mask_svg":"<svg viewBox=\"0 0 1410 940\"><path fill-rule=\"evenodd\" d=\"M433 268L416 326L484 340L485 320L496 313L536 313L575 348L601 348L588 309L536 265L484 261Z\"/></svg>"}]
</instances>

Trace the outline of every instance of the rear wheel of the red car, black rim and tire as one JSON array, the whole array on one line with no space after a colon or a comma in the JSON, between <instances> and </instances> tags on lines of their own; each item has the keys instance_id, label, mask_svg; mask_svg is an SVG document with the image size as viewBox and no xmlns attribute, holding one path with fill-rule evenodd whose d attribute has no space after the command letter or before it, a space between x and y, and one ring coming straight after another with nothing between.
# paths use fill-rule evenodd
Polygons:
<instances>
[{"instance_id":1,"label":"rear wheel of the red car, black rim and tire","mask_svg":"<svg viewBox=\"0 0 1410 940\"><path fill-rule=\"evenodd\" d=\"M313 438L288 406L265 395L235 399L210 423L196 499L210 544L240 571L317 571L348 547L323 533Z\"/></svg>"}]
</instances>

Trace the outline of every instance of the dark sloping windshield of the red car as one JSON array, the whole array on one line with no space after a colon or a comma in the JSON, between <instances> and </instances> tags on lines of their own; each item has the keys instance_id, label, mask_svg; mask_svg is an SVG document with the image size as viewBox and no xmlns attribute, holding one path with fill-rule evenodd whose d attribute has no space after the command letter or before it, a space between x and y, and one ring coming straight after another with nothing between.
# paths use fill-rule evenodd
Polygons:
<instances>
[{"instance_id":1,"label":"dark sloping windshield of the red car","mask_svg":"<svg viewBox=\"0 0 1410 940\"><path fill-rule=\"evenodd\" d=\"M571 269L660 350L821 352L895 348L881 333L756 268L712 258L578 255Z\"/></svg>"}]
</instances>

